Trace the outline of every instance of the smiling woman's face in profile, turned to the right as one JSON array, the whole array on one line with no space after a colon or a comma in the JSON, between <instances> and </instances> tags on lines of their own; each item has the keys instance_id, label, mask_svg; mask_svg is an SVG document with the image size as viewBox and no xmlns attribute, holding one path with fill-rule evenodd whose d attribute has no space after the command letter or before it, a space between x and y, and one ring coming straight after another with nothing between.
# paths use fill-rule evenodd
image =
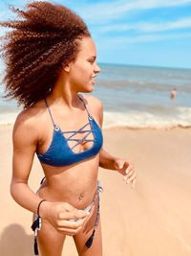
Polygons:
<instances>
[{"instance_id":1,"label":"smiling woman's face in profile, turned to the right","mask_svg":"<svg viewBox=\"0 0 191 256\"><path fill-rule=\"evenodd\" d=\"M94 78L100 72L96 64L96 45L91 37L80 40L80 50L73 62L69 64L69 79L72 88L79 92L94 90Z\"/></svg>"}]
</instances>

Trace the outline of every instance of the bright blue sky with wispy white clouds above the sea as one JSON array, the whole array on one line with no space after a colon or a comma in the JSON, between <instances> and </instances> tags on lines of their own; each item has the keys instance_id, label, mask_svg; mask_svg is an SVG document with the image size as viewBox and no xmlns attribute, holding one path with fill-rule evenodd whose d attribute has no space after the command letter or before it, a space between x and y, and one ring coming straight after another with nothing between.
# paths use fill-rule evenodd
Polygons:
<instances>
[{"instance_id":1,"label":"bright blue sky with wispy white clouds above the sea","mask_svg":"<svg viewBox=\"0 0 191 256\"><path fill-rule=\"evenodd\" d=\"M11 17L1 0L0 19ZM52 1L51 1L52 2ZM191 68L191 0L56 0L87 23L98 62Z\"/></svg>"}]
</instances>

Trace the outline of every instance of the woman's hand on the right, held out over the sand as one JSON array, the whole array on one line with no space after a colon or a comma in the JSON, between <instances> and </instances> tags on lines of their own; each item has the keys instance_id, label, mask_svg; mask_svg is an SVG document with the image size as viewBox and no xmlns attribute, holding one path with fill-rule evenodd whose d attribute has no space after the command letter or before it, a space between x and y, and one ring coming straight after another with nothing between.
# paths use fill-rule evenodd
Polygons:
<instances>
[{"instance_id":1,"label":"woman's hand on the right, held out over the sand","mask_svg":"<svg viewBox=\"0 0 191 256\"><path fill-rule=\"evenodd\" d=\"M117 158L115 160L115 169L118 173L124 176L124 180L126 183L131 182L131 187L135 188L137 181L136 171L134 168L134 164L131 161Z\"/></svg>"}]
</instances>

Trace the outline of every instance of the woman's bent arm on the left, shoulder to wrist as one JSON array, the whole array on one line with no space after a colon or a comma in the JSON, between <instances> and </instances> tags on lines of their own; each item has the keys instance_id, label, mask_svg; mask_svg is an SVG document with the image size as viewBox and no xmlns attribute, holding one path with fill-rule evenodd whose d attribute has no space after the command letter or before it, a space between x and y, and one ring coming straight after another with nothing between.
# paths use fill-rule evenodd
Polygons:
<instances>
[{"instance_id":1,"label":"woman's bent arm on the left, shoulder to wrist","mask_svg":"<svg viewBox=\"0 0 191 256\"><path fill-rule=\"evenodd\" d=\"M28 178L36 150L37 136L35 129L32 128L32 122L26 118L27 115L25 112L19 115L12 133L11 196L22 207L36 213L41 198L38 198L28 186Z\"/></svg>"}]
</instances>

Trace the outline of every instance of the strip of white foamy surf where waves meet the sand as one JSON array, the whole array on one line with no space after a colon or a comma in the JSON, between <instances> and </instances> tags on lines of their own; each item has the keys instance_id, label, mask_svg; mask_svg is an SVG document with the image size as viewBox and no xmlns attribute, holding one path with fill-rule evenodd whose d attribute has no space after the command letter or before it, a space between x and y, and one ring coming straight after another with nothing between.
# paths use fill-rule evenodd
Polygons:
<instances>
[{"instance_id":1,"label":"strip of white foamy surf where waves meet the sand","mask_svg":"<svg viewBox=\"0 0 191 256\"><path fill-rule=\"evenodd\" d=\"M128 108L127 108L128 109ZM152 109L150 109L152 110ZM103 128L191 128L191 107L178 107L176 109L167 109L166 111L141 111L131 109L127 111L104 110ZM169 112L168 112L169 110ZM1 112L0 126L12 125L19 111Z\"/></svg>"}]
</instances>

